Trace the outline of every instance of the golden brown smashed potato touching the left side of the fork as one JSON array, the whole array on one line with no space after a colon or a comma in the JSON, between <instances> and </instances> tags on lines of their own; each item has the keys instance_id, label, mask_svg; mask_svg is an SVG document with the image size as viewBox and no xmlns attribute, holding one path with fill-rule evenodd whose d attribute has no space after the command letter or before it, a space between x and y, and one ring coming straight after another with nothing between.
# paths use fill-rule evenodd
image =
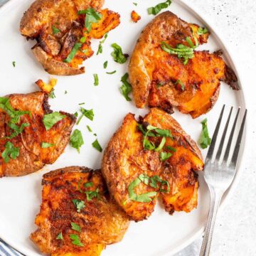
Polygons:
<instances>
[{"instance_id":1,"label":"golden brown smashed potato touching the left side of the fork","mask_svg":"<svg viewBox=\"0 0 256 256\"><path fill-rule=\"evenodd\" d=\"M151 134L148 137L145 131L149 125L171 136L152 137ZM144 138L154 149L146 146ZM160 146L163 140L165 144ZM151 215L160 192L169 213L195 208L198 191L195 171L200 170L203 170L203 161L196 143L173 117L156 108L139 122L134 114L127 114L122 127L110 139L102 160L102 174L110 194L129 218L136 221ZM151 186L151 178L158 186ZM164 187L162 190L159 182ZM145 193L149 193L148 196Z\"/></svg>"}]
</instances>

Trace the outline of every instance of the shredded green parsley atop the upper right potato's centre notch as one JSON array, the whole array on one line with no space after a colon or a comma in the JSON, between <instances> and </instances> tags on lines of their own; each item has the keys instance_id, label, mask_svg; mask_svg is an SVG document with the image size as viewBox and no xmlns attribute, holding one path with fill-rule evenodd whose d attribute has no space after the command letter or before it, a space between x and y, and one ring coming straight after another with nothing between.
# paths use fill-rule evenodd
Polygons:
<instances>
[{"instance_id":1,"label":"shredded green parsley atop the upper right potato's centre notch","mask_svg":"<svg viewBox=\"0 0 256 256\"><path fill-rule=\"evenodd\" d=\"M168 43L161 42L161 48L166 53L177 55L179 59L183 59L183 64L186 65L188 60L193 58L193 48L184 46L181 43L178 43L176 48L172 48Z\"/></svg>"}]
</instances>

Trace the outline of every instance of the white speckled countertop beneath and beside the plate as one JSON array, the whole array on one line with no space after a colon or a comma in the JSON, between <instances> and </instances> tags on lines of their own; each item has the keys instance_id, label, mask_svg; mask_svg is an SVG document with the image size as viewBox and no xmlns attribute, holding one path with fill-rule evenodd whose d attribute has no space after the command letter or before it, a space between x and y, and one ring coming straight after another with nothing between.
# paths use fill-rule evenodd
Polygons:
<instances>
[{"instance_id":1,"label":"white speckled countertop beneath and beside the plate","mask_svg":"<svg viewBox=\"0 0 256 256\"><path fill-rule=\"evenodd\" d=\"M0 0L0 6L5 1ZM221 32L223 41L238 60L248 106L247 155L235 192L219 213L213 238L213 256L256 255L256 1L186 0L201 10ZM176 256L196 256L202 239Z\"/></svg>"}]
</instances>

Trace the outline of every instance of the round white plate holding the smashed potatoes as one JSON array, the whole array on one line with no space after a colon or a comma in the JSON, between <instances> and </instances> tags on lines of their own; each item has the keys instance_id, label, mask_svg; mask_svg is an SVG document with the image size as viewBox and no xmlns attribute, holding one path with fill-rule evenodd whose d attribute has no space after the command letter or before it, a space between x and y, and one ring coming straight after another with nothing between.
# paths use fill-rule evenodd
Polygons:
<instances>
[{"instance_id":1,"label":"round white plate holding the smashed potatoes","mask_svg":"<svg viewBox=\"0 0 256 256\"><path fill-rule=\"evenodd\" d=\"M58 85L55 88L57 97L50 100L53 110L73 113L79 110L78 103L80 102L85 102L85 108L95 110L95 121L90 122L88 119L83 119L80 123L79 129L82 130L85 139L85 145L80 154L68 146L55 164L46 166L36 174L21 178L0 179L0 238L25 255L40 255L37 247L28 237L36 229L33 222L41 204L42 175L48 171L72 165L88 166L92 169L100 168L102 154L92 148L91 143L95 137L87 132L86 124L90 124L93 131L97 133L100 144L105 147L114 131L121 124L125 114L128 112L146 113L146 110L138 110L134 107L133 102L124 100L120 94L119 80L127 72L127 63L125 65L114 63L110 55L112 52L110 44L114 42L122 46L124 53L132 53L142 28L154 18L154 16L149 16L146 13L146 8L159 3L159 0L137 0L138 5L134 6L133 1L106 0L106 7L121 14L122 23L109 33L103 46L103 54L94 55L85 62L86 73L84 75L58 77ZM50 75L43 70L31 53L30 48L35 42L26 41L18 31L23 12L28 9L31 2L32 0L11 0L0 9L1 96L14 92L33 92L38 90L33 82L39 78L46 81L50 78ZM138 23L130 21L132 10L136 10L142 15L142 20ZM209 43L200 46L200 48L211 51L222 48L225 59L235 70L233 60L222 41L210 24L198 16L198 12L193 11L182 1L174 1L169 10L185 21L199 23L210 28ZM97 50L97 46L98 41L93 41L92 48ZM109 62L107 71L117 70L117 73L114 75L105 74L106 70L103 69L105 60ZM16 61L16 68L12 66L12 61ZM238 71L235 71L238 75ZM94 73L99 74L100 85L98 87L93 85ZM65 90L68 91L66 95L64 94ZM217 104L207 114L210 134L213 134L216 118L224 103L228 106L241 106L244 109L245 100L242 90L234 92L228 85L222 85ZM186 132L197 141L201 133L200 122L205 116L192 120L191 117L176 112L174 117L181 123ZM244 144L242 151L243 149ZM203 154L205 156L206 151L203 151ZM235 179L237 177L238 174ZM161 206L157 206L149 220L131 223L124 240L116 245L107 246L102 255L173 255L203 233L207 213L208 189L200 175L198 208L196 210L189 214L174 213L173 216L170 216Z\"/></svg>"}]
</instances>

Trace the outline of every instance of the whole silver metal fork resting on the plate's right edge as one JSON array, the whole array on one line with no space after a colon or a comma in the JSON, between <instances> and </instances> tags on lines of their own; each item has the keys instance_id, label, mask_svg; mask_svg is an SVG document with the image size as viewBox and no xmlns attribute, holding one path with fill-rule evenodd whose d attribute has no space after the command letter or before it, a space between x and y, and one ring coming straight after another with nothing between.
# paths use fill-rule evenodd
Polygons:
<instances>
[{"instance_id":1,"label":"whole silver metal fork resting on the plate's right edge","mask_svg":"<svg viewBox=\"0 0 256 256\"><path fill-rule=\"evenodd\" d=\"M230 137L228 139L228 144L225 149L225 153L223 156L223 160L220 159L220 156L223 153L223 144L225 142L225 137L228 131L228 124L230 122L230 117L233 112L233 107L231 107L230 114L228 115L228 120L225 124L225 128L223 131L223 135L220 140L220 145L218 147L217 154L215 159L213 159L213 152L215 149L216 140L218 137L218 132L220 129L220 124L223 118L223 112L225 109L225 105L220 112L220 117L218 119L217 126L215 128L215 132L213 134L213 139L210 144L208 154L206 156L206 164L204 169L204 178L210 190L210 210L208 214L208 221L205 229L205 235L203 237L203 244L201 247L200 256L208 256L210 254L210 244L213 238L213 229L215 225L215 219L218 212L218 207L220 205L221 198L223 193L228 189L233 178L235 176L236 166L238 164L238 155L240 151L240 145L242 142L242 134L245 128L245 119L247 116L247 110L245 110L245 115L242 119L242 124L240 126L240 131L238 134L238 139L235 144L235 149L231 156L231 160L228 161L230 156L230 148L233 141L235 127L238 121L238 116L240 112L240 108L235 116L235 121L233 127L230 132Z\"/></svg>"}]
</instances>

